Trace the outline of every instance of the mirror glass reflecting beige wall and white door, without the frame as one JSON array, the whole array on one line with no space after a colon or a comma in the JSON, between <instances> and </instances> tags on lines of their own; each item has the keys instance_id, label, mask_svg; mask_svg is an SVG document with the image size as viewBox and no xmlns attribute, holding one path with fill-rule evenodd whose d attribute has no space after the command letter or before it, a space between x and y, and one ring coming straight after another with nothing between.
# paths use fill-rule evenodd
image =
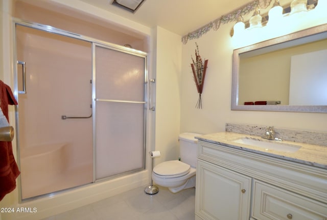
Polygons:
<instances>
[{"instance_id":1,"label":"mirror glass reflecting beige wall and white door, without the frame","mask_svg":"<svg viewBox=\"0 0 327 220\"><path fill-rule=\"evenodd\" d=\"M327 81L327 74L323 74L326 58L327 39L253 57L240 54L238 104L255 100L276 100L283 105L326 104L327 97L319 97L327 94L323 84Z\"/></svg>"}]
</instances>

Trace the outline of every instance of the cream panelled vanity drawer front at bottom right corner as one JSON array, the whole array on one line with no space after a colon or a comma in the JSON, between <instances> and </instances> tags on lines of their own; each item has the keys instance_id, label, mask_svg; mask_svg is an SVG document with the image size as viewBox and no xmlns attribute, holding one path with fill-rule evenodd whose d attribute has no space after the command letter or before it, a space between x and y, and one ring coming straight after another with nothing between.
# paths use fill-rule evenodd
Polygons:
<instances>
[{"instance_id":1,"label":"cream panelled vanity drawer front at bottom right corner","mask_svg":"<svg viewBox=\"0 0 327 220\"><path fill-rule=\"evenodd\" d=\"M253 180L252 216L256 219L327 220L327 204Z\"/></svg>"}]
</instances>

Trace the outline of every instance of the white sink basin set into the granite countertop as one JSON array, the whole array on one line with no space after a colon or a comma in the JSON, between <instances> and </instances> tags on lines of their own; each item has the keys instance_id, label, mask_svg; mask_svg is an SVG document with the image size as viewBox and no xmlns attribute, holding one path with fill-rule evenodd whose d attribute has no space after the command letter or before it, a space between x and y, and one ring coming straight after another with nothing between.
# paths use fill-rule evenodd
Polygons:
<instances>
[{"instance_id":1,"label":"white sink basin set into the granite countertop","mask_svg":"<svg viewBox=\"0 0 327 220\"><path fill-rule=\"evenodd\" d=\"M299 145L287 144L277 141L268 141L263 139L252 139L250 137L242 137L240 139L234 140L233 142L264 148L266 151L275 150L292 153L298 151L301 148Z\"/></svg>"}]
</instances>

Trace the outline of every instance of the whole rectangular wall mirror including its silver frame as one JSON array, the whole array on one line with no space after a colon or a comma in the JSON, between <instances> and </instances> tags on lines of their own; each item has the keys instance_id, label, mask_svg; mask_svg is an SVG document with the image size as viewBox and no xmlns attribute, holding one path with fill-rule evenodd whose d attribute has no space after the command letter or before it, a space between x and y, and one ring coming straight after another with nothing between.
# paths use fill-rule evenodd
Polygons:
<instances>
[{"instance_id":1,"label":"whole rectangular wall mirror including its silver frame","mask_svg":"<svg viewBox=\"0 0 327 220\"><path fill-rule=\"evenodd\" d=\"M232 110L327 113L327 24L233 51Z\"/></svg>"}]
</instances>

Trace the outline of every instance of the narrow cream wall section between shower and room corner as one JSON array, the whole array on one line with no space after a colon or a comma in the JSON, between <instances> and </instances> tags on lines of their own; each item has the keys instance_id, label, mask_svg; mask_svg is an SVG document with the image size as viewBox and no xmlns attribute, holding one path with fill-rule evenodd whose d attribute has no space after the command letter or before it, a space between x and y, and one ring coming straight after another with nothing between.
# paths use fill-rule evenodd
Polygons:
<instances>
[{"instance_id":1,"label":"narrow cream wall section between shower and room corner","mask_svg":"<svg viewBox=\"0 0 327 220\"><path fill-rule=\"evenodd\" d=\"M156 33L155 163L178 159L180 122L181 38L160 28Z\"/></svg>"}]
</instances>

